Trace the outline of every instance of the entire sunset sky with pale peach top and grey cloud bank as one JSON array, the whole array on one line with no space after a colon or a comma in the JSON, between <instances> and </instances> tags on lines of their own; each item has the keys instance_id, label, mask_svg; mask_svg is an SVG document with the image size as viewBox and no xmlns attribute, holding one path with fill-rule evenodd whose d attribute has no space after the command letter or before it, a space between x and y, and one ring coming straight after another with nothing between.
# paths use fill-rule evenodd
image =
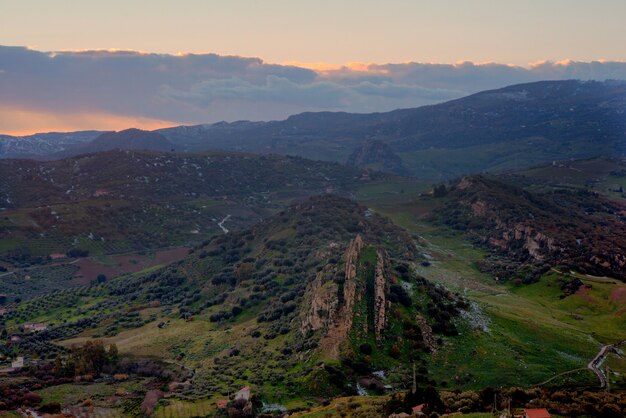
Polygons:
<instances>
[{"instance_id":1,"label":"entire sunset sky with pale peach top and grey cloud bank","mask_svg":"<svg viewBox=\"0 0 626 418\"><path fill-rule=\"evenodd\" d=\"M623 0L0 0L0 133L386 111L626 78L624 16Z\"/></svg>"}]
</instances>

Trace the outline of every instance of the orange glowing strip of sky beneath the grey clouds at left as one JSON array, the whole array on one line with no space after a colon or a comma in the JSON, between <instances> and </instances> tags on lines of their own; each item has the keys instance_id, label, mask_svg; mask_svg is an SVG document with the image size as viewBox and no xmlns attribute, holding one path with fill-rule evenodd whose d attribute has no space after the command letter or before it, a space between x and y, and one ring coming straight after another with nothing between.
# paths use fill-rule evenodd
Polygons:
<instances>
[{"instance_id":1,"label":"orange glowing strip of sky beneath the grey clouds at left","mask_svg":"<svg viewBox=\"0 0 626 418\"><path fill-rule=\"evenodd\" d=\"M35 109L0 106L0 133L31 135L38 132L81 130L118 131L126 128L159 129L180 123L104 112L55 113Z\"/></svg>"}]
</instances>

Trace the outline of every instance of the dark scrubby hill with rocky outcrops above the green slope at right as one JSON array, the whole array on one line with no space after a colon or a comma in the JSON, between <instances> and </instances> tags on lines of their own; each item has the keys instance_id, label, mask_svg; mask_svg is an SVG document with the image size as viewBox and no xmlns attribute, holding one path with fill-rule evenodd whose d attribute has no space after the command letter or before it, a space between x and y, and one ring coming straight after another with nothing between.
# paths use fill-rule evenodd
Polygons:
<instances>
[{"instance_id":1,"label":"dark scrubby hill with rocky outcrops above the green slope at right","mask_svg":"<svg viewBox=\"0 0 626 418\"><path fill-rule=\"evenodd\" d=\"M445 199L440 222L504 256L489 267L496 277L532 282L560 265L626 279L623 200L582 189L533 193L485 176L463 178Z\"/></svg>"}]
</instances>

